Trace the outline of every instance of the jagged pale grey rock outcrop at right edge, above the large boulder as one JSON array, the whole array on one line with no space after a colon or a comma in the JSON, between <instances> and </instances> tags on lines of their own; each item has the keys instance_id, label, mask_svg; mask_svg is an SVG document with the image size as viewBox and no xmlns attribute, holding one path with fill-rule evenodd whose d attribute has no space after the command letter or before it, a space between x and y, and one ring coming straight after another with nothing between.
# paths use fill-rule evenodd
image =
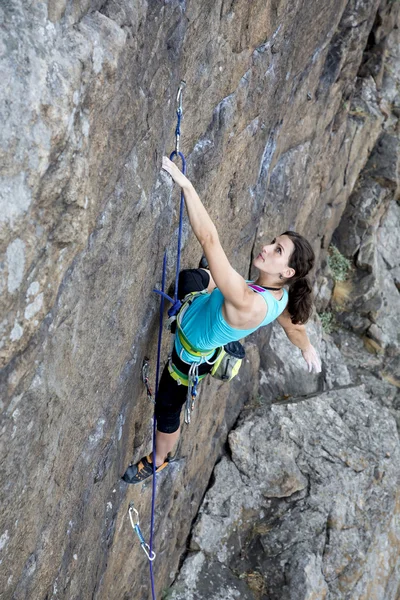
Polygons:
<instances>
[{"instance_id":1,"label":"jagged pale grey rock outcrop at right edge, above the large boulder","mask_svg":"<svg viewBox=\"0 0 400 600\"><path fill-rule=\"evenodd\" d=\"M400 206L393 187L399 181L399 149L398 136L380 138L335 234L339 249L355 263L349 314L341 321L384 349L400 343ZM392 160L392 179L379 183L382 155Z\"/></svg>"}]
</instances>

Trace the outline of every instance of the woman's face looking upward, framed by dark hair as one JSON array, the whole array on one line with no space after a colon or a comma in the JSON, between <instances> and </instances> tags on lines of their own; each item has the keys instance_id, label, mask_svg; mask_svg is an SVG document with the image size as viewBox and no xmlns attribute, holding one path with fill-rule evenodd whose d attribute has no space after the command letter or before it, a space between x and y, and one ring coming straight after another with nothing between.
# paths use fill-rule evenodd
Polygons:
<instances>
[{"instance_id":1,"label":"woman's face looking upward, framed by dark hair","mask_svg":"<svg viewBox=\"0 0 400 600\"><path fill-rule=\"evenodd\" d=\"M260 254L253 260L253 265L262 273L282 274L285 279L293 277L294 269L288 266L289 258L294 250L294 244L287 235L280 235L261 248Z\"/></svg>"}]
</instances>

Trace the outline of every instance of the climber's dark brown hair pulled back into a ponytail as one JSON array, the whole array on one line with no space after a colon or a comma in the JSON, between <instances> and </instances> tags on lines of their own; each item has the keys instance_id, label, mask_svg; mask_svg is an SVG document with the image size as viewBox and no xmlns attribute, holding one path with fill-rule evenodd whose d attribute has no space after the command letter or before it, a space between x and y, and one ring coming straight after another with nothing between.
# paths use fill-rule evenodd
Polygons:
<instances>
[{"instance_id":1,"label":"climber's dark brown hair pulled back into a ponytail","mask_svg":"<svg viewBox=\"0 0 400 600\"><path fill-rule=\"evenodd\" d=\"M289 258L288 265L294 269L295 274L285 281L289 285L289 301L287 309L292 323L306 323L312 312L312 288L306 277L313 268L315 254L310 243L295 231L285 231L294 244L294 250Z\"/></svg>"}]
</instances>

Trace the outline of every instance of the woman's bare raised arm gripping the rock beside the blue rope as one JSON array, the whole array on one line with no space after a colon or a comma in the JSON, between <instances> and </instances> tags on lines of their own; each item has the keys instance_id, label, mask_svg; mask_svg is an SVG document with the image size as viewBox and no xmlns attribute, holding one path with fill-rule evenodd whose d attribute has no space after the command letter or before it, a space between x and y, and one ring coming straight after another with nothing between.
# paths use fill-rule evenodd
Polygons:
<instances>
[{"instance_id":1,"label":"woman's bare raised arm gripping the rock beside the blue rope","mask_svg":"<svg viewBox=\"0 0 400 600\"><path fill-rule=\"evenodd\" d=\"M219 241L217 229L196 190L188 178L167 157L163 157L163 169L181 186L185 197L190 225L208 260L211 275L225 300L238 310L248 310L255 294L246 281L231 266Z\"/></svg>"}]
</instances>

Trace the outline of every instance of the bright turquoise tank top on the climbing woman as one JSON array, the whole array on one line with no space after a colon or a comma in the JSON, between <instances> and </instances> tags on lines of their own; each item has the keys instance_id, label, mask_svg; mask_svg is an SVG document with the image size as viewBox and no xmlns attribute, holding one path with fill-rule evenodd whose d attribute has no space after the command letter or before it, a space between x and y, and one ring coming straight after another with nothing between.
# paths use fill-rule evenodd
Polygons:
<instances>
[{"instance_id":1,"label":"bright turquoise tank top on the climbing woman","mask_svg":"<svg viewBox=\"0 0 400 600\"><path fill-rule=\"evenodd\" d=\"M225 321L222 315L224 296L218 288L210 294L199 294L186 310L181 323L182 331L193 348L198 350L215 349L228 342L240 340L260 327L272 323L285 310L288 302L288 293L285 289L281 300L277 300L268 290L254 293L259 293L264 298L267 314L263 321L252 329L236 329ZM188 363L204 362L204 360L210 359L214 352L203 359L193 356L183 348L178 336L175 337L175 349L178 356Z\"/></svg>"}]
</instances>

